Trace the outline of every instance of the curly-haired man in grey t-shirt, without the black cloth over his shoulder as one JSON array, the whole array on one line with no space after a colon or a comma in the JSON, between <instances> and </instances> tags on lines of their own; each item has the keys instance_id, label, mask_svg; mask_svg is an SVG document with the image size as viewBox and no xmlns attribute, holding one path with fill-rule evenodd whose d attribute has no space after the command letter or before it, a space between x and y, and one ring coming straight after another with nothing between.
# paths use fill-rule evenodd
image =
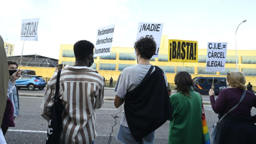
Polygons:
<instances>
[{"instance_id":1,"label":"curly-haired man in grey t-shirt, without the black cloth over his shoulder","mask_svg":"<svg viewBox=\"0 0 256 144\"><path fill-rule=\"evenodd\" d=\"M146 76L149 68L151 67L149 60L156 51L156 43L154 39L151 38L139 39L137 42L135 42L134 47L138 65L125 68L119 75L115 86L116 97L114 105L116 108L120 107L124 103L126 93L137 87L141 83L142 79ZM155 67L151 73L153 73L154 70ZM164 78L167 86L165 73ZM116 137L117 140L121 141L122 143L153 143L154 137L155 131L141 139L140 142L136 142L131 135L124 113L121 119L121 126Z\"/></svg>"}]
</instances>

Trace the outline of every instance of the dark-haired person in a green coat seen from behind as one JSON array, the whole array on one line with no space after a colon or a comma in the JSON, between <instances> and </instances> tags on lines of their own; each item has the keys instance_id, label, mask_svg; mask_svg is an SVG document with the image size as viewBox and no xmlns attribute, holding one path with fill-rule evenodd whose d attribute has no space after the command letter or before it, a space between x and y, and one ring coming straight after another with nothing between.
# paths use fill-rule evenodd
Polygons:
<instances>
[{"instance_id":1,"label":"dark-haired person in a green coat seen from behind","mask_svg":"<svg viewBox=\"0 0 256 144\"><path fill-rule=\"evenodd\" d=\"M193 90L193 80L186 71L174 78L177 93L170 96L173 114L170 119L169 143L203 143L202 100Z\"/></svg>"}]
</instances>

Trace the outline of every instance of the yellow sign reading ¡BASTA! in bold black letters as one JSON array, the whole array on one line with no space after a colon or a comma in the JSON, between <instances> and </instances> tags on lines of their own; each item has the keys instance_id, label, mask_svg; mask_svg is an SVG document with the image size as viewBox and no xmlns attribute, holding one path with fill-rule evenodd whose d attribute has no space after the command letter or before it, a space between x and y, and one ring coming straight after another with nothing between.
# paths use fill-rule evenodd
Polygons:
<instances>
[{"instance_id":1,"label":"yellow sign reading \u00a1BASTA! in bold black letters","mask_svg":"<svg viewBox=\"0 0 256 144\"><path fill-rule=\"evenodd\" d=\"M198 62L197 41L169 39L168 61Z\"/></svg>"}]
</instances>

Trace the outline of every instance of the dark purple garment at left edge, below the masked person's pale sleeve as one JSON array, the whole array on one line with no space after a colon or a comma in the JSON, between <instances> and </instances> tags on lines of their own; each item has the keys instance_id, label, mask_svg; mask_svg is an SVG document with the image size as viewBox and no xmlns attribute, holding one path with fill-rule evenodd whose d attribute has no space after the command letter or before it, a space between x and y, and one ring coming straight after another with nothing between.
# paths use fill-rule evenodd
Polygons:
<instances>
[{"instance_id":1,"label":"dark purple garment at left edge, below the masked person's pale sleeve","mask_svg":"<svg viewBox=\"0 0 256 144\"><path fill-rule=\"evenodd\" d=\"M15 127L13 113L14 113L14 108L12 105L12 101L10 100L9 97L7 97L7 103L4 111L2 126Z\"/></svg>"}]
</instances>

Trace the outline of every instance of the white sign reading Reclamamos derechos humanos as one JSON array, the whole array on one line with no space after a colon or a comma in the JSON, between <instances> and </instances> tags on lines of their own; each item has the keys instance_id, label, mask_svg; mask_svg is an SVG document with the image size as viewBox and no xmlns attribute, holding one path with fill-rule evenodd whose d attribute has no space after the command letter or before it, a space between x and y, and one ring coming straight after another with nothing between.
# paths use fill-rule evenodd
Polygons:
<instances>
[{"instance_id":1,"label":"white sign reading Reclamamos derechos humanos","mask_svg":"<svg viewBox=\"0 0 256 144\"><path fill-rule=\"evenodd\" d=\"M115 24L98 29L94 57L110 54L114 30Z\"/></svg>"}]
</instances>

